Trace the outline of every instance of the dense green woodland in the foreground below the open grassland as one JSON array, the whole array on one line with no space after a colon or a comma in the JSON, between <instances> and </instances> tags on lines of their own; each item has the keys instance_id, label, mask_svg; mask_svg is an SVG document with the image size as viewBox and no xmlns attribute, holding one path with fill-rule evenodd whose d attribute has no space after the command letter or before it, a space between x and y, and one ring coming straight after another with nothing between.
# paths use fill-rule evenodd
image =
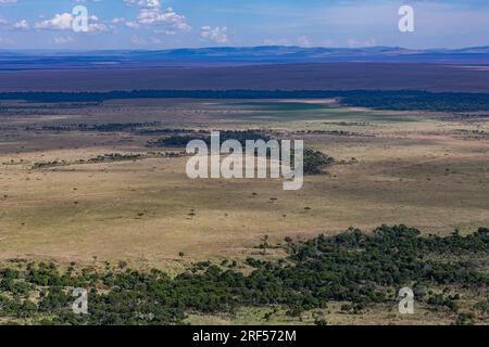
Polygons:
<instances>
[{"instance_id":1,"label":"dense green woodland in the foreground below the open grassland","mask_svg":"<svg viewBox=\"0 0 489 347\"><path fill-rule=\"evenodd\" d=\"M181 324L186 314L228 312L240 307L283 307L300 317L346 301L346 312L362 313L377 304L397 304L409 286L416 300L444 310L459 324L486 321L489 314L489 230L449 236L421 235L405 226L358 229L306 241L286 237L259 248L281 247L278 260L248 258L198 262L170 277L137 271L120 262L105 270L62 270L53 264L12 262L0 269L0 317L4 323ZM184 256L180 254L180 256ZM263 259L263 257L262 257ZM89 291L89 314L74 314L73 287ZM461 310L465 293L478 295ZM473 296L474 297L474 296ZM318 323L326 323L325 320Z\"/></svg>"}]
</instances>

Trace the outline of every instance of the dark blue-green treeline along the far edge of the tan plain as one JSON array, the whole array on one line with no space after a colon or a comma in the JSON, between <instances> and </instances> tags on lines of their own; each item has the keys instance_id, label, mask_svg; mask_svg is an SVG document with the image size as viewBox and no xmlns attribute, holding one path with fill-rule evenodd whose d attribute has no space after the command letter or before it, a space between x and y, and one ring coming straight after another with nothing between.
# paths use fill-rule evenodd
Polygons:
<instances>
[{"instance_id":1,"label":"dark blue-green treeline along the far edge of the tan plain","mask_svg":"<svg viewBox=\"0 0 489 347\"><path fill-rule=\"evenodd\" d=\"M489 110L489 93L435 93L416 90L134 90L109 92L3 92L0 100L103 102L114 99L341 99L351 106L380 110L473 112Z\"/></svg>"}]
</instances>

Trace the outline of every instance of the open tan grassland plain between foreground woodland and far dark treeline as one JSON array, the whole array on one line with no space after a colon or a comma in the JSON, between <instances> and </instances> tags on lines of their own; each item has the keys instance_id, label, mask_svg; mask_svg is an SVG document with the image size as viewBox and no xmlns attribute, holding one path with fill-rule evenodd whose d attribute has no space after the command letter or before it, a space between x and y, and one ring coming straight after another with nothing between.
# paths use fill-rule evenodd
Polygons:
<instances>
[{"instance_id":1,"label":"open tan grassland plain between foreground woodland and far dark treeline","mask_svg":"<svg viewBox=\"0 0 489 347\"><path fill-rule=\"evenodd\" d=\"M350 226L405 223L440 234L489 226L489 125L480 114L379 112L327 100L12 101L2 107L2 260L124 259L178 271L195 260L258 254L265 235L280 242ZM139 125L120 131L57 128L134 121ZM304 139L336 164L306 177L297 192L275 180L192 181L186 157L148 155L155 150L147 142L161 136L140 130L159 128L260 128ZM79 162L110 153L142 157ZM35 167L51 162L62 165Z\"/></svg>"}]
</instances>

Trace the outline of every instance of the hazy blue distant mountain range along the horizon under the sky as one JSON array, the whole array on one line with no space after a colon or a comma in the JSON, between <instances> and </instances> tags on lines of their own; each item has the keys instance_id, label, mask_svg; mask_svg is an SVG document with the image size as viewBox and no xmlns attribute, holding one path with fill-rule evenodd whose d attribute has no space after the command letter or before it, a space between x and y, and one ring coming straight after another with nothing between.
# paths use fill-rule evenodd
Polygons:
<instances>
[{"instance_id":1,"label":"hazy blue distant mountain range along the horizon under the sky","mask_svg":"<svg viewBox=\"0 0 489 347\"><path fill-rule=\"evenodd\" d=\"M285 63L378 62L489 65L489 47L410 50L397 47L301 48L223 47L155 51L5 51L0 69L131 68Z\"/></svg>"}]
</instances>

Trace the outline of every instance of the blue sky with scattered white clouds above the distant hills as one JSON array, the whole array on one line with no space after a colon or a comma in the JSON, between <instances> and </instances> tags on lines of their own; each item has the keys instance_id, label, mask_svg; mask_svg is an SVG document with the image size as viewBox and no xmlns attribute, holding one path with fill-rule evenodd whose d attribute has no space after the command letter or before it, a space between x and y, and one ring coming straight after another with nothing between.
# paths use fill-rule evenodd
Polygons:
<instances>
[{"instance_id":1,"label":"blue sky with scattered white clouds above the distant hills","mask_svg":"<svg viewBox=\"0 0 489 347\"><path fill-rule=\"evenodd\" d=\"M401 5L414 31L401 33ZM73 10L87 9L75 31ZM78 22L79 23L79 22ZM489 46L488 0L0 0L0 50Z\"/></svg>"}]
</instances>

